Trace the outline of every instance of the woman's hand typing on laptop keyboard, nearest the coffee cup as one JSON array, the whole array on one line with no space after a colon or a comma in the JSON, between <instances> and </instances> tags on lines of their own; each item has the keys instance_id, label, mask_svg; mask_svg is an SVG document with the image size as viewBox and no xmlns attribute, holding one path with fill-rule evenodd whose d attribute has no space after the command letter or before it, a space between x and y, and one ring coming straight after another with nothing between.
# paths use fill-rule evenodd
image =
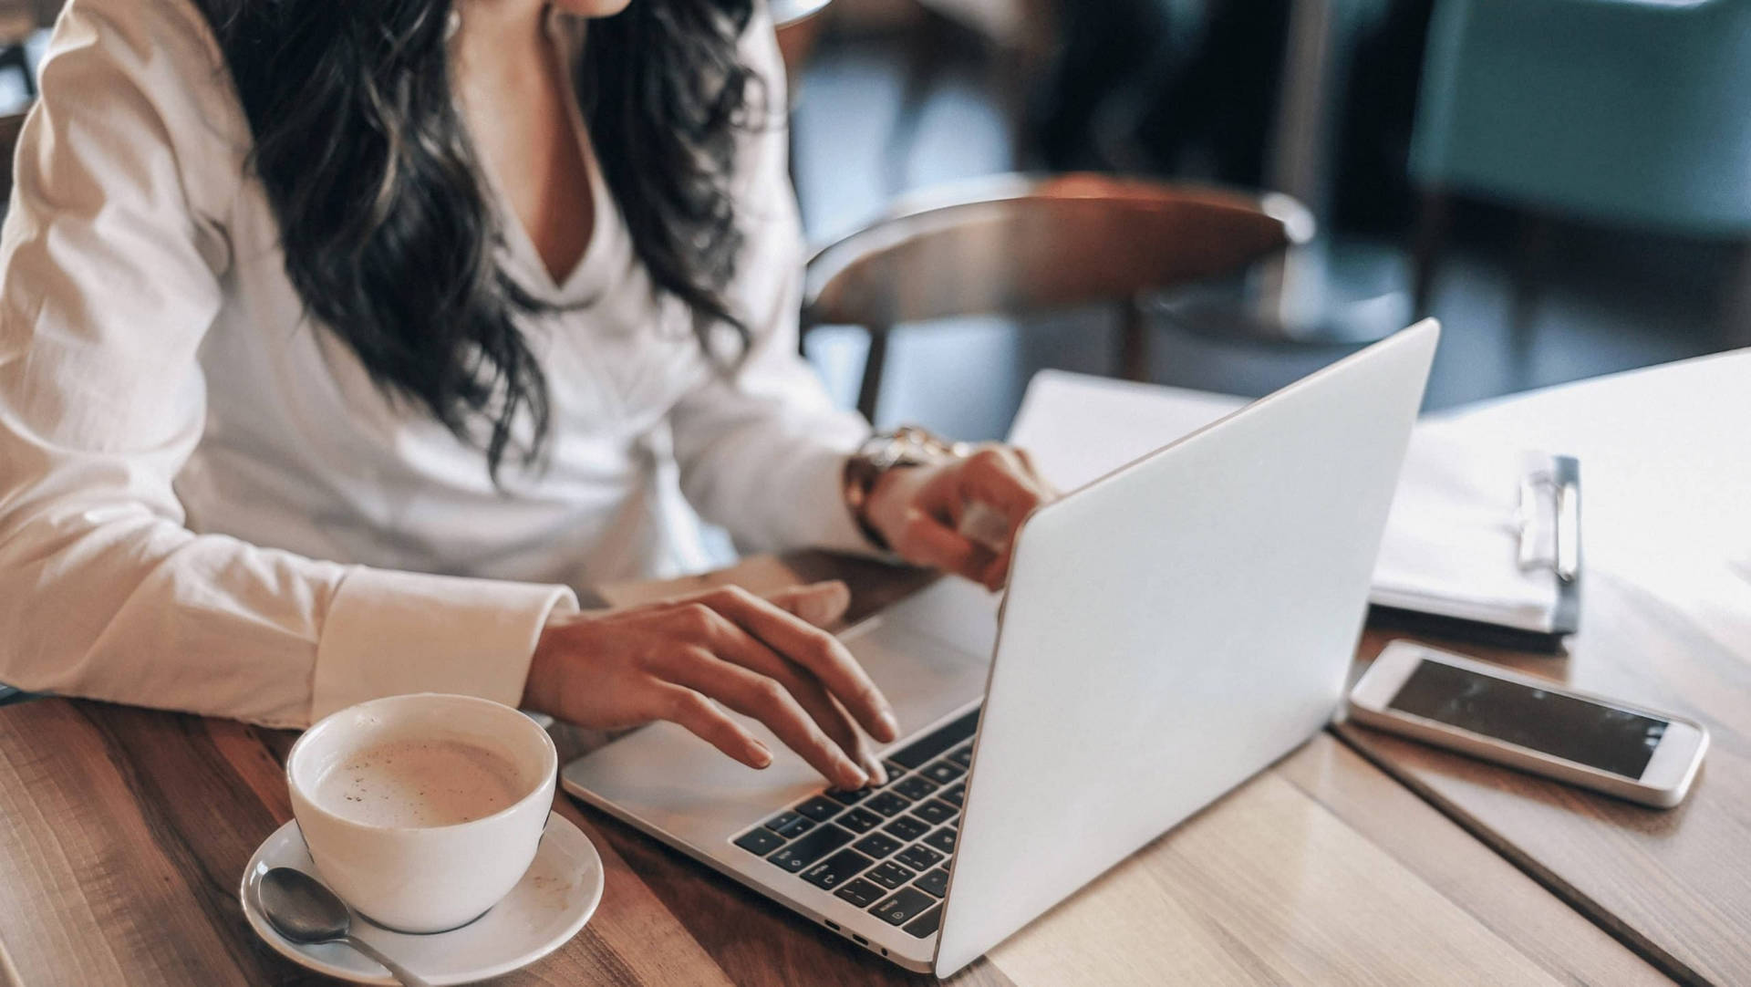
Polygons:
<instances>
[{"instance_id":1,"label":"woman's hand typing on laptop keyboard, nearest the coffee cup","mask_svg":"<svg viewBox=\"0 0 1751 987\"><path fill-rule=\"evenodd\" d=\"M846 612L844 583L760 598L737 586L613 611L555 614L524 705L615 730L669 719L763 768L772 751L718 704L763 723L839 788L888 780L858 724L898 738L893 709L846 646L821 630Z\"/></svg>"}]
</instances>

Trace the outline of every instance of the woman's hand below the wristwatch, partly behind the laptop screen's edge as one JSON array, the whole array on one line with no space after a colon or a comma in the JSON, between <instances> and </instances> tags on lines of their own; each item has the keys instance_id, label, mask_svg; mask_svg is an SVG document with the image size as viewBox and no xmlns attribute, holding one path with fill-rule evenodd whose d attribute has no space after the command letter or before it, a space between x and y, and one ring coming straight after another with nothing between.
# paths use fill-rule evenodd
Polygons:
<instances>
[{"instance_id":1,"label":"woman's hand below the wristwatch, partly behind the laptop screen's edge","mask_svg":"<svg viewBox=\"0 0 1751 987\"><path fill-rule=\"evenodd\" d=\"M993 444L967 458L890 469L876 480L863 516L900 558L1000 590L1016 528L1056 495L1026 452ZM995 522L975 514L963 527L974 506Z\"/></svg>"}]
</instances>

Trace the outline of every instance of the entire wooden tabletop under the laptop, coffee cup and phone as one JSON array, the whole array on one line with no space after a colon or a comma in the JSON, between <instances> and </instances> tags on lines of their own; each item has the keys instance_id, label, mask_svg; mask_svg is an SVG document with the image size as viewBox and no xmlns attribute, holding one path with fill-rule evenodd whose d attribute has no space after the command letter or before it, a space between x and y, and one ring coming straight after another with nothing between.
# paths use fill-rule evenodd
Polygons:
<instances>
[{"instance_id":1,"label":"entire wooden tabletop under the laptop, coffee cup and phone","mask_svg":"<svg viewBox=\"0 0 1751 987\"><path fill-rule=\"evenodd\" d=\"M1315 737L960 973L960 984L1751 984L1751 350L1441 424L1578 453L1583 634L1567 656L1462 648L1714 732L1670 812L1355 726ZM844 578L854 614L914 572L816 553L608 586ZM1389 635L1369 632L1366 662ZM1439 644L1439 642L1434 642ZM560 728L564 752L601 737ZM235 887L291 817L292 735L93 702L0 705L0 982L303 984ZM702 756L706 754L702 751ZM581 810L590 924L504 984L888 984L902 973Z\"/></svg>"}]
</instances>

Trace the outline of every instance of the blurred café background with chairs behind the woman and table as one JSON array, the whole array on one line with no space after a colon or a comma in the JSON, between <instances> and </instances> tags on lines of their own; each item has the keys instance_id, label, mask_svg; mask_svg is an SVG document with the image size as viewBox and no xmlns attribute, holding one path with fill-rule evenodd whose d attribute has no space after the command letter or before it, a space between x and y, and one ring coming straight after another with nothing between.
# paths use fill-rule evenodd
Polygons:
<instances>
[{"instance_id":1,"label":"blurred caf\u00e9 background with chairs behind the woman and table","mask_svg":"<svg viewBox=\"0 0 1751 987\"><path fill-rule=\"evenodd\" d=\"M1257 396L1420 313L1431 410L1751 343L1751 0L770 4L804 352L879 425ZM0 0L0 140L58 7Z\"/></svg>"}]
</instances>

